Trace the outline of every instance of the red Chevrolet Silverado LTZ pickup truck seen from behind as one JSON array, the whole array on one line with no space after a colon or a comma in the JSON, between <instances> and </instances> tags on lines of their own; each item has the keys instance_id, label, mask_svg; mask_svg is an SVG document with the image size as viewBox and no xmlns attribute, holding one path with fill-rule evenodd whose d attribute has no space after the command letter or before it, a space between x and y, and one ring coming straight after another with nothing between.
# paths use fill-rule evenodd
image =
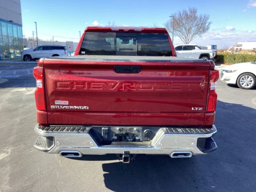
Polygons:
<instances>
[{"instance_id":1,"label":"red Chevrolet Silverado LTZ pickup truck seen from behind","mask_svg":"<svg viewBox=\"0 0 256 192\"><path fill-rule=\"evenodd\" d=\"M219 72L176 57L164 28L88 27L74 56L34 68L38 150L188 158L216 150Z\"/></svg>"}]
</instances>

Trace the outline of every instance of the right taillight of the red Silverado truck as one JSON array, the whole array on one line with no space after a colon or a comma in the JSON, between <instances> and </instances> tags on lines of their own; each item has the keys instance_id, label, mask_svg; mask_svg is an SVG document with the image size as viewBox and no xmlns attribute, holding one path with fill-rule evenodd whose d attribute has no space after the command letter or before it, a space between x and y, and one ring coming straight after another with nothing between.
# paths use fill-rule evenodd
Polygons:
<instances>
[{"instance_id":1,"label":"right taillight of the red Silverado truck","mask_svg":"<svg viewBox=\"0 0 256 192\"><path fill-rule=\"evenodd\" d=\"M210 70L210 86L209 86L209 97L207 104L207 112L214 112L217 103L216 81L219 78L218 70Z\"/></svg>"}]
</instances>

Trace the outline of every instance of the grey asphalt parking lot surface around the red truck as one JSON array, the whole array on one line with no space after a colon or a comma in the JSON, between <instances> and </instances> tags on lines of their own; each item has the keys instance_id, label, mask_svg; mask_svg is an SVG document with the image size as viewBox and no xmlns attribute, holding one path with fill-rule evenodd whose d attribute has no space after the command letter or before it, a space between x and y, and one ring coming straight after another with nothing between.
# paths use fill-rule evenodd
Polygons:
<instances>
[{"instance_id":1,"label":"grey asphalt parking lot surface around the red truck","mask_svg":"<svg viewBox=\"0 0 256 192\"><path fill-rule=\"evenodd\" d=\"M34 66L0 65L0 191L256 191L256 88L218 81L218 150L205 156L138 155L130 164L115 155L74 160L33 147Z\"/></svg>"}]
</instances>

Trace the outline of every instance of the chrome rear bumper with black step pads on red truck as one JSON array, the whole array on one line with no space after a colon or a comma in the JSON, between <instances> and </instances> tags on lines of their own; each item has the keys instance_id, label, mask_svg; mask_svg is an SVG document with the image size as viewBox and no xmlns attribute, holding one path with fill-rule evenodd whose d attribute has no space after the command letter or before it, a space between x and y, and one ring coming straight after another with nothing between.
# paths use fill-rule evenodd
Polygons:
<instances>
[{"instance_id":1,"label":"chrome rear bumper with black step pads on red truck","mask_svg":"<svg viewBox=\"0 0 256 192\"><path fill-rule=\"evenodd\" d=\"M159 128L156 135L148 142L112 142L100 145L90 134L92 127L84 126L50 126L35 127L39 137L34 144L38 150L59 154L61 151L76 151L78 154L166 154L187 152L191 155L206 154L217 148L212 136L217 132L212 128ZM211 143L209 143L211 142ZM177 157L179 155L176 155ZM181 156L180 156L181 157Z\"/></svg>"}]
</instances>

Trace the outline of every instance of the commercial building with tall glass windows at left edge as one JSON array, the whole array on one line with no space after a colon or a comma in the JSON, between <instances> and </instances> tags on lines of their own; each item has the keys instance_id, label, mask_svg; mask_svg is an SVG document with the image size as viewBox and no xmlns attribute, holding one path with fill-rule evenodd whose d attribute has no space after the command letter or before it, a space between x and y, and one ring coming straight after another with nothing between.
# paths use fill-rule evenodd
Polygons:
<instances>
[{"instance_id":1,"label":"commercial building with tall glass windows at left edge","mask_svg":"<svg viewBox=\"0 0 256 192\"><path fill-rule=\"evenodd\" d=\"M0 56L19 58L22 50L20 0L0 0Z\"/></svg>"}]
</instances>

